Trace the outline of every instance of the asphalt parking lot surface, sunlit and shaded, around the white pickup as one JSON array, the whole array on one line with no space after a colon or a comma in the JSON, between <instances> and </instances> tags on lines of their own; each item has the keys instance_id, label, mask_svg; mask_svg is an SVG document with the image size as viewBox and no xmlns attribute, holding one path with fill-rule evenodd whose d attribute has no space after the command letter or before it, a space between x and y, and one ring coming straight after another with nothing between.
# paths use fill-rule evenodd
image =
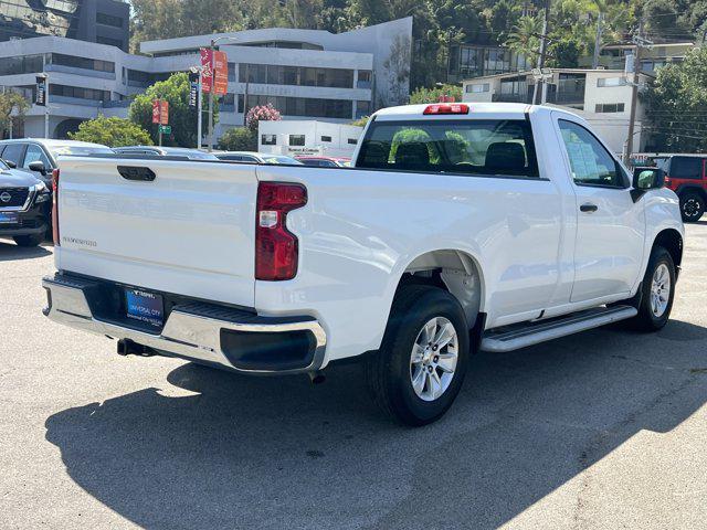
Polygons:
<instances>
[{"instance_id":1,"label":"asphalt parking lot surface, sunlit and shaded, around the white pickup","mask_svg":"<svg viewBox=\"0 0 707 530\"><path fill-rule=\"evenodd\" d=\"M478 354L450 413L115 353L41 314L52 248L0 241L0 527L705 528L707 222L673 320Z\"/></svg>"}]
</instances>

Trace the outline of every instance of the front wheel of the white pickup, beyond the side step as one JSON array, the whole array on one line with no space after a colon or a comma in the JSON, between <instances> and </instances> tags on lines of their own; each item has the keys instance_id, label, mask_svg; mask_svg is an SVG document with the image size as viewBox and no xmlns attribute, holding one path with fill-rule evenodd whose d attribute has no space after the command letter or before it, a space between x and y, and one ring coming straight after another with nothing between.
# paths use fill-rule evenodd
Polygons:
<instances>
[{"instance_id":1,"label":"front wheel of the white pickup, beyond the side step","mask_svg":"<svg viewBox=\"0 0 707 530\"><path fill-rule=\"evenodd\" d=\"M633 322L643 331L657 331L671 318L675 297L675 263L671 253L662 246L651 251L642 289L639 315Z\"/></svg>"}]
</instances>

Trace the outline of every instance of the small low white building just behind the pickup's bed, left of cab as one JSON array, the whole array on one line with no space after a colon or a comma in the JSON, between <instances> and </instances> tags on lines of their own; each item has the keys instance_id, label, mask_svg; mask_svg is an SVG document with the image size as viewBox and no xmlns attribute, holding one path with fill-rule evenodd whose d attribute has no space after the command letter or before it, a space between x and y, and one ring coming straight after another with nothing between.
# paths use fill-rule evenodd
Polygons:
<instances>
[{"instance_id":1,"label":"small low white building just behind the pickup's bed, left of cab","mask_svg":"<svg viewBox=\"0 0 707 530\"><path fill-rule=\"evenodd\" d=\"M257 150L274 155L351 158L363 127L328 121L260 121Z\"/></svg>"}]
</instances>

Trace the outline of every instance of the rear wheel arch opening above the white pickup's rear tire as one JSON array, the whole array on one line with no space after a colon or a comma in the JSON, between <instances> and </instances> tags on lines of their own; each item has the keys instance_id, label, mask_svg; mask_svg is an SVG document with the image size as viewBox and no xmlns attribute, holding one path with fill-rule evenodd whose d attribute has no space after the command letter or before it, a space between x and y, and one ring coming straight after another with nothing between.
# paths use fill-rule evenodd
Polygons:
<instances>
[{"instance_id":1,"label":"rear wheel arch opening above the white pickup's rear tire","mask_svg":"<svg viewBox=\"0 0 707 530\"><path fill-rule=\"evenodd\" d=\"M456 298L472 329L485 310L486 289L478 259L466 251L441 248L412 258L398 279L395 292L409 284L433 285Z\"/></svg>"}]
</instances>

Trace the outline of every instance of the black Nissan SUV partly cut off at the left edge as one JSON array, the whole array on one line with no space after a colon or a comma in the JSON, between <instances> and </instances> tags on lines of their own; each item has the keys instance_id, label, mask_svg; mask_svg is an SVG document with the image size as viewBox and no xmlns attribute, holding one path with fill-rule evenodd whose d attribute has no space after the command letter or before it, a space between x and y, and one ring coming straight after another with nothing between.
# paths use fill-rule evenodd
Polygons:
<instances>
[{"instance_id":1,"label":"black Nissan SUV partly cut off at the left edge","mask_svg":"<svg viewBox=\"0 0 707 530\"><path fill-rule=\"evenodd\" d=\"M50 226L52 193L40 179L0 160L0 237L36 246Z\"/></svg>"}]
</instances>

